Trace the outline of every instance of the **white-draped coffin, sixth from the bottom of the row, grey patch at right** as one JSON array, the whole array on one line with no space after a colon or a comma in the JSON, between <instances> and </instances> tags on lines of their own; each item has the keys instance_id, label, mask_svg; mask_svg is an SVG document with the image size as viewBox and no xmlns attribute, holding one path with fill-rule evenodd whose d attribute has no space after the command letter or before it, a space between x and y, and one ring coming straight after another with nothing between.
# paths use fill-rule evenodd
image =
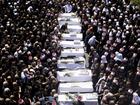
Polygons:
<instances>
[{"instance_id":1,"label":"white-draped coffin, sixth from the bottom of the row, grey patch at right","mask_svg":"<svg viewBox=\"0 0 140 105\"><path fill-rule=\"evenodd\" d=\"M60 45L63 48L83 48L84 43L80 40L74 40L74 41L60 41Z\"/></svg>"}]
</instances>

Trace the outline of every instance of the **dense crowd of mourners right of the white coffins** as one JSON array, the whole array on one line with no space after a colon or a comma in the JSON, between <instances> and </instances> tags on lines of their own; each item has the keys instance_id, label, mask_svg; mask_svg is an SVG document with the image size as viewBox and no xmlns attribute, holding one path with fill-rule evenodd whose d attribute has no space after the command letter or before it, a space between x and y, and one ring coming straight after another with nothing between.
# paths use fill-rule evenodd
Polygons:
<instances>
[{"instance_id":1,"label":"dense crowd of mourners right of the white coffins","mask_svg":"<svg viewBox=\"0 0 140 105\"><path fill-rule=\"evenodd\" d=\"M140 105L140 11L130 0L75 0L101 105Z\"/></svg>"}]
</instances>

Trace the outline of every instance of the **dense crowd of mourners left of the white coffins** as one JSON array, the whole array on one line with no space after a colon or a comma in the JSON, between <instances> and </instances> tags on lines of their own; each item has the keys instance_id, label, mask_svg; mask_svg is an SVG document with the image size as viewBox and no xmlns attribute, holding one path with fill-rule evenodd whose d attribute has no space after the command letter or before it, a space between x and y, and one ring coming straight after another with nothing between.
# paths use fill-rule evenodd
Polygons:
<instances>
[{"instance_id":1,"label":"dense crowd of mourners left of the white coffins","mask_svg":"<svg viewBox=\"0 0 140 105\"><path fill-rule=\"evenodd\" d=\"M0 0L0 105L50 105L57 96L56 0Z\"/></svg>"}]
</instances>

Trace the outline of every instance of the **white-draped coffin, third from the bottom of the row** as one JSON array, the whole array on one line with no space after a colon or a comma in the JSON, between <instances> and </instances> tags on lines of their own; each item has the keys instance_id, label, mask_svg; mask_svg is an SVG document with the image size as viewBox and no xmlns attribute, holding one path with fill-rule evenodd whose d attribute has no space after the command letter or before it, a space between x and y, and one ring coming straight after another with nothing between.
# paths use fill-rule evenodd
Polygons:
<instances>
[{"instance_id":1,"label":"white-draped coffin, third from the bottom of the row","mask_svg":"<svg viewBox=\"0 0 140 105\"><path fill-rule=\"evenodd\" d=\"M88 69L57 71L57 79L61 82L92 81L92 73Z\"/></svg>"}]
</instances>

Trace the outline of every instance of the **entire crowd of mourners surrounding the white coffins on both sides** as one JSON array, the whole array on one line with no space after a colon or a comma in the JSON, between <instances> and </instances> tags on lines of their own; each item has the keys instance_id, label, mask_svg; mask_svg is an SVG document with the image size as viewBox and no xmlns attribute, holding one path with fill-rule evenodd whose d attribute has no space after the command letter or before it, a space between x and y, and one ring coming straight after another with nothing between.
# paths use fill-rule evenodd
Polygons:
<instances>
[{"instance_id":1,"label":"entire crowd of mourners surrounding the white coffins on both sides","mask_svg":"<svg viewBox=\"0 0 140 105\"><path fill-rule=\"evenodd\" d=\"M81 17L99 104L140 104L140 11L129 0L0 0L0 10L0 105L57 97L63 11Z\"/></svg>"}]
</instances>

